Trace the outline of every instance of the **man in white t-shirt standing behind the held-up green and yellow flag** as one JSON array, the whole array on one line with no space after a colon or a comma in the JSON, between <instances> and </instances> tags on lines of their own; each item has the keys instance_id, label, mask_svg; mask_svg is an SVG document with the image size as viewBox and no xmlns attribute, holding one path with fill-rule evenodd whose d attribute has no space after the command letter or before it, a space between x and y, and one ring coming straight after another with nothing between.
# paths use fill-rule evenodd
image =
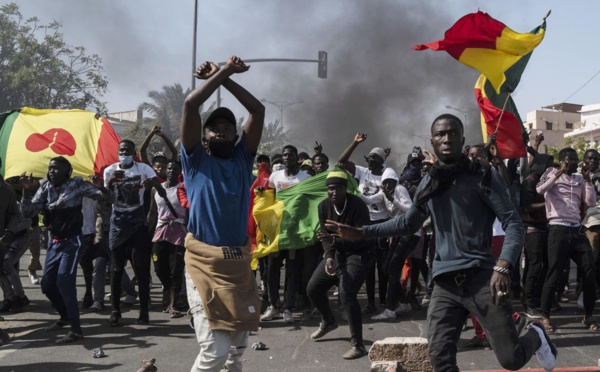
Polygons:
<instances>
[{"instance_id":1,"label":"man in white t-shirt standing behind the held-up green and yellow flag","mask_svg":"<svg viewBox=\"0 0 600 372\"><path fill-rule=\"evenodd\" d=\"M307 178L310 175L298 168L298 149L292 145L287 145L283 148L281 153L283 158L282 170L271 173L269 177L269 188L275 189L275 192L280 192L288 187L294 186ZM298 293L299 279L298 274L298 260L296 255L298 252L295 250L281 251L271 253L269 255L268 273L267 273L267 290L269 291L269 303L270 306L267 308L265 313L260 317L260 320L272 320L279 316L279 309L277 308L279 302L279 268L281 267L283 260L286 260L285 275L287 278L287 289L285 293L285 310L283 311L283 321L285 323L293 323L294 317L292 315L292 308L294 307L294 301L296 299L296 293Z\"/></svg>"}]
</instances>

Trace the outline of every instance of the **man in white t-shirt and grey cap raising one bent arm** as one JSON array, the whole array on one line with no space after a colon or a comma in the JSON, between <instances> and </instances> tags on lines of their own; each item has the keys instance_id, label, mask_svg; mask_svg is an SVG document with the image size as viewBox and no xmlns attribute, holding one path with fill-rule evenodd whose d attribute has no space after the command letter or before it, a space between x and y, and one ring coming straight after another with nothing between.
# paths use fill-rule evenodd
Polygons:
<instances>
[{"instance_id":1,"label":"man in white t-shirt and grey cap raising one bent arm","mask_svg":"<svg viewBox=\"0 0 600 372\"><path fill-rule=\"evenodd\" d=\"M373 196L381 190L381 176L385 170L386 151L380 147L375 147L369 155L365 157L368 167L361 167L350 161L350 156L356 147L367 139L365 133L357 133L354 141L342 153L338 163L343 164L346 170L358 179L358 190L365 196ZM367 204L371 223L379 223L389 219L389 212L383 201L373 204ZM379 280L379 302L385 305L387 297L387 276L384 273L384 258L388 250L388 244L385 239L379 239L375 249L375 260L367 274L367 306L363 309L363 314L372 314L377 311L375 306L375 269L377 269L377 279Z\"/></svg>"}]
</instances>

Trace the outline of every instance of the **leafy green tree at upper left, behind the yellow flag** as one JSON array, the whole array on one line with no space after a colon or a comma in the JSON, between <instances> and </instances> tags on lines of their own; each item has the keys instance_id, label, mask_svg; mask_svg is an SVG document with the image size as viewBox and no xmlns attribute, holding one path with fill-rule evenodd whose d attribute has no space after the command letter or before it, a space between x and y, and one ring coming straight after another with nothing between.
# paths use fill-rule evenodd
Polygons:
<instances>
[{"instance_id":1,"label":"leafy green tree at upper left, behind the yellow flag","mask_svg":"<svg viewBox=\"0 0 600 372\"><path fill-rule=\"evenodd\" d=\"M67 45L60 28L24 19L15 3L0 7L0 112L30 106L106 113L102 60Z\"/></svg>"}]
</instances>

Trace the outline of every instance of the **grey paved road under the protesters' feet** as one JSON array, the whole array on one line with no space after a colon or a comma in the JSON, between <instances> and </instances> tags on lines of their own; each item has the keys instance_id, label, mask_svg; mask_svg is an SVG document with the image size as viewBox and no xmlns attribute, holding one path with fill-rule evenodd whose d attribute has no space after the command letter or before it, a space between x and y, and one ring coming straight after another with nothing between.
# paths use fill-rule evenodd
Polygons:
<instances>
[{"instance_id":1,"label":"grey paved road under the protesters' feet","mask_svg":"<svg viewBox=\"0 0 600 372\"><path fill-rule=\"evenodd\" d=\"M29 255L21 260L26 267ZM575 272L574 270L571 271ZM159 371L189 371L198 352L188 317L170 319L160 312L160 287L152 289L155 304L151 309L149 326L133 324L138 307L123 314L123 327L107 325L109 310L100 313L82 311L85 338L75 344L55 346L53 341L66 332L48 333L41 330L57 318L39 285L32 285L26 271L21 271L25 290L31 299L26 312L1 314L5 320L0 327L8 329L13 341L0 347L0 372L35 371L136 371L142 359L156 358ZM155 283L158 280L154 279ZM82 293L83 278L78 276L78 291ZM361 294L364 301L364 293ZM515 304L517 304L515 302ZM522 308L516 307L522 311ZM349 348L348 328L342 325L319 342L310 340L318 319L300 320L294 325L282 319L261 324L258 333L250 336L250 344L264 342L268 350L248 349L244 354L247 371L368 371L369 360L362 358L344 361L341 355ZM573 301L553 318L558 331L552 339L559 348L559 366L597 366L600 359L600 333L592 334L579 323L581 311ZM367 347L374 341L390 336L425 336L425 310L417 311L394 321L372 322L365 319L364 338ZM463 333L461 342L473 337L471 327ZM107 357L94 359L92 349L102 347ZM490 350L461 348L458 354L462 370L500 369ZM535 357L526 368L539 368Z\"/></svg>"}]
</instances>

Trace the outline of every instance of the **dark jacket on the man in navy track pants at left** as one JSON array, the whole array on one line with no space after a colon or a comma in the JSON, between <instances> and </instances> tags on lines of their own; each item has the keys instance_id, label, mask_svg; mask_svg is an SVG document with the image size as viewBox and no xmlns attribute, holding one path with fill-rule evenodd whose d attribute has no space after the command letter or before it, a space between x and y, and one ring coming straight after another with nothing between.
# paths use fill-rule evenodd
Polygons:
<instances>
[{"instance_id":1,"label":"dark jacket on the man in navy track pants at left","mask_svg":"<svg viewBox=\"0 0 600 372\"><path fill-rule=\"evenodd\" d=\"M81 234L83 226L81 206L84 197L108 200L111 196L109 190L103 194L81 177L75 177L58 187L53 186L51 182L45 182L33 198L24 195L21 200L21 211L25 217L32 217L42 212L53 238L65 239Z\"/></svg>"}]
</instances>

